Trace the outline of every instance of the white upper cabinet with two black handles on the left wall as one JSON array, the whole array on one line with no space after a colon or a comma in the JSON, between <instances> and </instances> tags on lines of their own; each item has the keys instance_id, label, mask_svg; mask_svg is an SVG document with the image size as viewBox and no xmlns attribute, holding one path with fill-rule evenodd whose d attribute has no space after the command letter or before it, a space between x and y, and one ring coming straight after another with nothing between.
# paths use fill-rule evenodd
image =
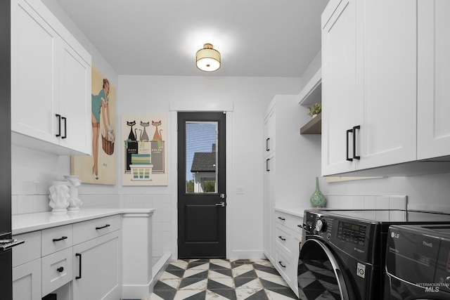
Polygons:
<instances>
[{"instance_id":1,"label":"white upper cabinet with two black handles on the left wall","mask_svg":"<svg viewBox=\"0 0 450 300\"><path fill-rule=\"evenodd\" d=\"M41 1L11 1L13 143L90 154L90 94L89 53Z\"/></svg>"}]
</instances>

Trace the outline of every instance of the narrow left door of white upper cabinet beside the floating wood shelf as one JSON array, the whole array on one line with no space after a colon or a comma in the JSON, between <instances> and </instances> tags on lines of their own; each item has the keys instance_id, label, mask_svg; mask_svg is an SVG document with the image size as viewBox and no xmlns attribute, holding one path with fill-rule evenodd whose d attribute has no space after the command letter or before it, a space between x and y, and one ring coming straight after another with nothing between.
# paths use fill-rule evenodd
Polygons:
<instances>
[{"instance_id":1,"label":"narrow left door of white upper cabinet beside the floating wood shelf","mask_svg":"<svg viewBox=\"0 0 450 300\"><path fill-rule=\"evenodd\" d=\"M346 159L346 134L356 115L356 1L341 1L337 8L335 2L322 14L323 175L354 170Z\"/></svg>"}]
</instances>

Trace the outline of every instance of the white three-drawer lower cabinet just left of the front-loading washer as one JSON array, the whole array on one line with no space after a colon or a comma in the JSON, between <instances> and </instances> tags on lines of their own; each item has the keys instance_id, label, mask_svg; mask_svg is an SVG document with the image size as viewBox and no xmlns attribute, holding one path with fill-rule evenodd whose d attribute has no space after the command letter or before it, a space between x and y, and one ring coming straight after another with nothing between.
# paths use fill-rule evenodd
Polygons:
<instances>
[{"instance_id":1,"label":"white three-drawer lower cabinet just left of the front-loading washer","mask_svg":"<svg viewBox=\"0 0 450 300\"><path fill-rule=\"evenodd\" d=\"M275 254L271 263L298 296L297 266L302 240L303 218L294 214L274 211L275 235L272 239Z\"/></svg>"}]
</instances>

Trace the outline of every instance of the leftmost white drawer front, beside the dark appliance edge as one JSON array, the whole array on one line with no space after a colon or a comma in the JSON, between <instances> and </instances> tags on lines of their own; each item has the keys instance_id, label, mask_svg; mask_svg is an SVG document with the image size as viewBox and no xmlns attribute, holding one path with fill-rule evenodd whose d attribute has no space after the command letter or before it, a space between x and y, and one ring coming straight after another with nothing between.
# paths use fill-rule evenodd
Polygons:
<instances>
[{"instance_id":1,"label":"leftmost white drawer front, beside the dark appliance edge","mask_svg":"<svg viewBox=\"0 0 450 300\"><path fill-rule=\"evenodd\" d=\"M13 267L28 261L41 258L41 232L24 233L14 235L17 240L25 240L25 243L13 247Z\"/></svg>"}]
</instances>

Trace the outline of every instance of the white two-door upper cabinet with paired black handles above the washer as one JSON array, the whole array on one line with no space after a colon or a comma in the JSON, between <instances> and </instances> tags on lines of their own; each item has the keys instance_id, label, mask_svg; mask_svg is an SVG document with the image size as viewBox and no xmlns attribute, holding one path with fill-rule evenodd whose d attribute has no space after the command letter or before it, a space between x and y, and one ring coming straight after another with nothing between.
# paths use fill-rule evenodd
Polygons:
<instances>
[{"instance_id":1,"label":"white two-door upper cabinet with paired black handles above the washer","mask_svg":"<svg viewBox=\"0 0 450 300\"><path fill-rule=\"evenodd\" d=\"M416 160L416 1L330 1L322 15L322 174Z\"/></svg>"}]
</instances>

